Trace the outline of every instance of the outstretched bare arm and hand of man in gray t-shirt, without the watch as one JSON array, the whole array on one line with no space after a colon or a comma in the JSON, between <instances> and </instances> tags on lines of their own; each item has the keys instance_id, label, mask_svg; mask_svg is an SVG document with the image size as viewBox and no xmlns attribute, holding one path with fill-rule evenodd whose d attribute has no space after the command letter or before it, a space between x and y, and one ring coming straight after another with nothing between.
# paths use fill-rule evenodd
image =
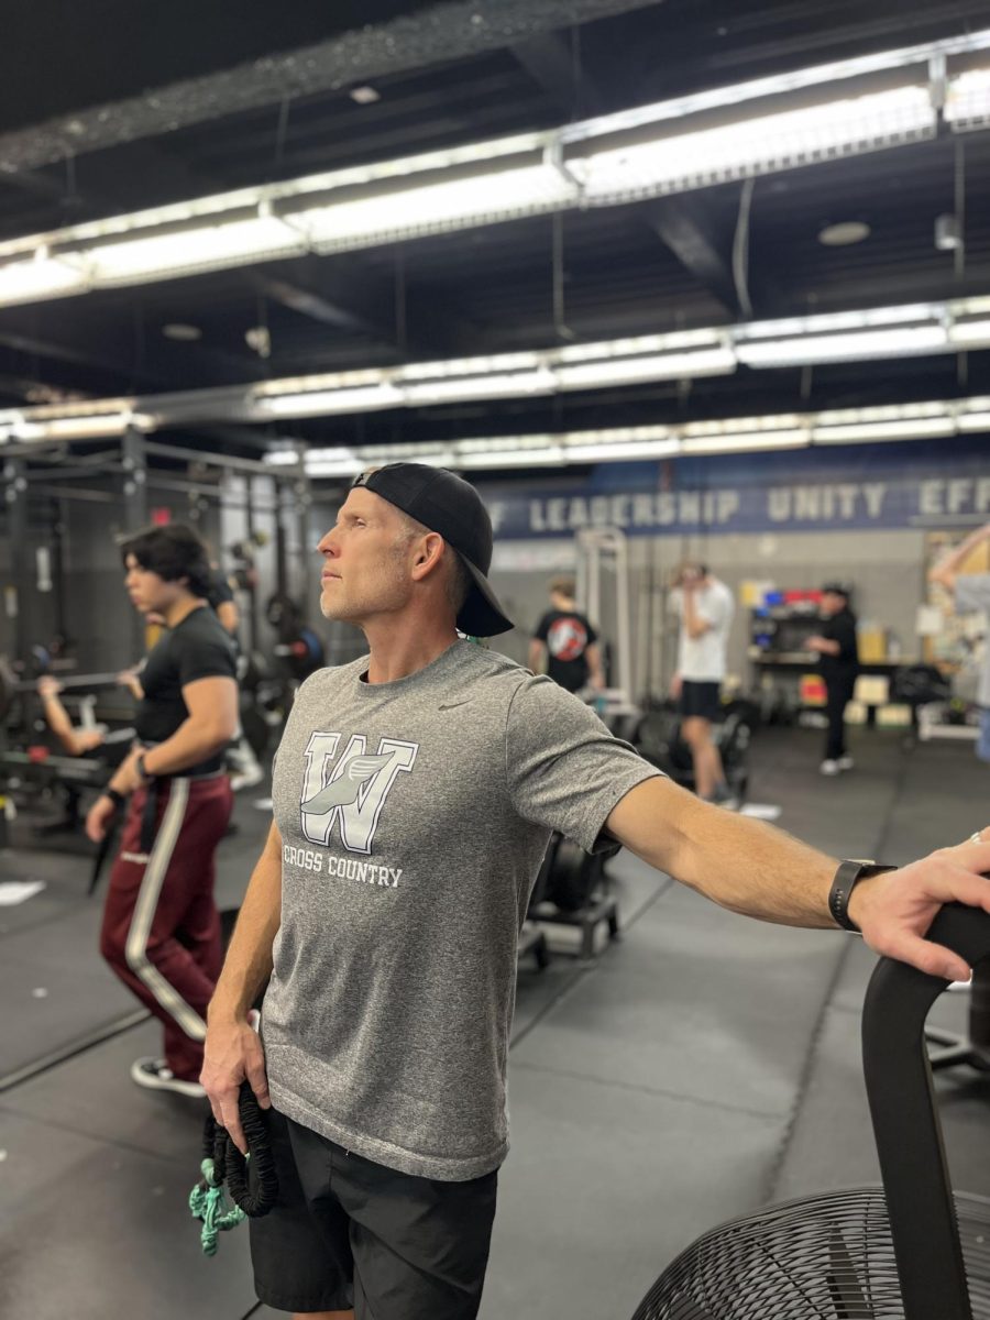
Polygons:
<instances>
[{"instance_id":1,"label":"outstretched bare arm and hand of man in gray t-shirt, without the watch","mask_svg":"<svg viewBox=\"0 0 990 1320\"><path fill-rule=\"evenodd\" d=\"M828 896L837 858L771 825L702 803L669 779L648 779L631 789L606 828L644 862L734 912L783 925L836 928ZM939 849L861 880L849 915L876 953L965 981L970 969L964 960L924 935L944 903L990 912L985 871L990 871L990 829L981 842Z\"/></svg>"}]
</instances>

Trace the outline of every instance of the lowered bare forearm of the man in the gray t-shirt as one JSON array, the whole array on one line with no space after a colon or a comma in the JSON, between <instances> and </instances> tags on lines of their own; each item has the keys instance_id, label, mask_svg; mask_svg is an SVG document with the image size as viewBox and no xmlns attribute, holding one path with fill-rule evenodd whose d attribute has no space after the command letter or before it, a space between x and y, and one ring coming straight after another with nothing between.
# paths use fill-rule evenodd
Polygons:
<instances>
[{"instance_id":1,"label":"lowered bare forearm of the man in the gray t-shirt","mask_svg":"<svg viewBox=\"0 0 990 1320\"><path fill-rule=\"evenodd\" d=\"M281 837L273 828L244 895L207 1010L209 1022L243 1018L271 975L272 945L281 924Z\"/></svg>"}]
</instances>

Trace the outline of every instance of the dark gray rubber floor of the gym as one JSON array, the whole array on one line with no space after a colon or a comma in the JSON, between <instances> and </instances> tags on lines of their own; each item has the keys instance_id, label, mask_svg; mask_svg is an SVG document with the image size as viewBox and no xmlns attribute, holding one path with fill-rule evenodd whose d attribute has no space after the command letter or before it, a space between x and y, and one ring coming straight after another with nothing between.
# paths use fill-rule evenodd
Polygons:
<instances>
[{"instance_id":1,"label":"dark gray rubber floor of the gym","mask_svg":"<svg viewBox=\"0 0 990 1320\"><path fill-rule=\"evenodd\" d=\"M820 735L767 730L751 799L840 857L907 862L990 817L969 743L907 750L863 730L854 772L817 774ZM253 793L247 795L248 799ZM267 830L243 797L219 858L236 906ZM13 849L0 908L0 1313L5 1320L242 1320L256 1304L242 1226L199 1251L186 1209L205 1105L128 1080L158 1028L96 952L79 855ZM520 964L482 1317L623 1320L704 1229L762 1203L879 1177L858 1018L874 957L842 932L734 916L635 858L612 865L622 937L585 965ZM966 994L933 1020L965 1028ZM990 1195L990 1074L936 1077L957 1188Z\"/></svg>"}]
</instances>

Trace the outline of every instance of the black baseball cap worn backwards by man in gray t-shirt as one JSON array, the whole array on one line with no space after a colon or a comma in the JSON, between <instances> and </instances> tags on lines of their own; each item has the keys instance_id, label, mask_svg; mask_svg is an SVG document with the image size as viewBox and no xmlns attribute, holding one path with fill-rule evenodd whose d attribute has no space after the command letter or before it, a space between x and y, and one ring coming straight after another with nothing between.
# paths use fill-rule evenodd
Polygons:
<instances>
[{"instance_id":1,"label":"black baseball cap worn backwards by man in gray t-shirt","mask_svg":"<svg viewBox=\"0 0 990 1320\"><path fill-rule=\"evenodd\" d=\"M362 473L351 488L363 486L395 504L457 550L473 585L457 616L461 632L495 638L515 624L502 612L486 573L491 568L492 532L488 511L478 491L446 467L426 463L387 463Z\"/></svg>"}]
</instances>

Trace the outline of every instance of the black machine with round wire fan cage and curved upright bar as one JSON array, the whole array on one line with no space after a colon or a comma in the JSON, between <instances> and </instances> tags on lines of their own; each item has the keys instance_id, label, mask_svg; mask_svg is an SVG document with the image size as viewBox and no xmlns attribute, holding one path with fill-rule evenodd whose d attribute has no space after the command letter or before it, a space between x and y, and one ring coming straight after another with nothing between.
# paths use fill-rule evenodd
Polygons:
<instances>
[{"instance_id":1,"label":"black machine with round wire fan cage and curved upright bar","mask_svg":"<svg viewBox=\"0 0 990 1320\"><path fill-rule=\"evenodd\" d=\"M990 957L990 913L952 904L931 939ZM883 1187L723 1224L667 1267L634 1320L990 1320L990 1199L953 1196L924 1047L946 982L882 958L863 1072Z\"/></svg>"}]
</instances>

